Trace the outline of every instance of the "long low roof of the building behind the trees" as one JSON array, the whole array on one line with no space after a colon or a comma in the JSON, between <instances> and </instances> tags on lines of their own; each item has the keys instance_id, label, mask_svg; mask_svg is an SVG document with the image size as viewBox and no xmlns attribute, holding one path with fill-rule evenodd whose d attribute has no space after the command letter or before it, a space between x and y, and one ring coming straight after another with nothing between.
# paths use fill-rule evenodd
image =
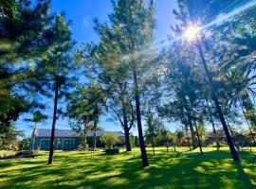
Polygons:
<instances>
[{"instance_id":1,"label":"long low roof of the building behind the trees","mask_svg":"<svg viewBox=\"0 0 256 189\"><path fill-rule=\"evenodd\" d=\"M120 131L105 131L105 130L97 130L97 136L102 136L105 133L114 133L119 137L124 136L124 134ZM36 137L50 137L51 129L35 129L34 136ZM89 131L87 136L93 136L94 131ZM55 129L55 137L79 137L81 136L80 132L76 132L72 129Z\"/></svg>"}]
</instances>

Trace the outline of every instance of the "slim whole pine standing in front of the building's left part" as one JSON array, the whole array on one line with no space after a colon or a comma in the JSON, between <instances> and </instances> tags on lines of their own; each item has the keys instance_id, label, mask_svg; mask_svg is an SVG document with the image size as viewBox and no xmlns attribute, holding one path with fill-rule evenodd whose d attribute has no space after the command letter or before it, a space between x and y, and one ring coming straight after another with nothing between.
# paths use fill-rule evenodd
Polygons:
<instances>
[{"instance_id":1,"label":"slim whole pine standing in front of the building's left part","mask_svg":"<svg viewBox=\"0 0 256 189\"><path fill-rule=\"evenodd\" d=\"M71 38L69 26L64 21L64 15L56 17L54 26L52 26L55 36L58 36L56 45L54 45L42 60L38 60L36 64L38 93L46 97L53 98L52 128L50 137L48 164L53 162L55 127L58 113L62 112L58 109L58 102L61 98L68 94L74 75L72 71L75 69L72 54L70 53L74 42Z\"/></svg>"}]
</instances>

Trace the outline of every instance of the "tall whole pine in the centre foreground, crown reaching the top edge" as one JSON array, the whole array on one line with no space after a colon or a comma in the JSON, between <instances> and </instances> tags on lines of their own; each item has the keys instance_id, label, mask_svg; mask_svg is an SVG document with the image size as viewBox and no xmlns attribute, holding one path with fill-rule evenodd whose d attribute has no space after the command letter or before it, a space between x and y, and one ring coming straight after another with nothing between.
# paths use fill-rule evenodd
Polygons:
<instances>
[{"instance_id":1,"label":"tall whole pine in the centre foreground, crown reaching the top edge","mask_svg":"<svg viewBox=\"0 0 256 189\"><path fill-rule=\"evenodd\" d=\"M143 62L137 55L149 48L153 40L153 29L155 27L154 1L151 1L147 8L143 0L128 0L128 1L113 1L114 12L109 18L112 25L117 28L119 36L119 47L122 54L125 56L122 59L130 62L134 81L134 95L136 101L137 112L137 130L138 140L141 151L141 159L143 166L148 166L148 158L144 145L142 123L141 123L141 107L138 89L138 69Z\"/></svg>"}]
</instances>

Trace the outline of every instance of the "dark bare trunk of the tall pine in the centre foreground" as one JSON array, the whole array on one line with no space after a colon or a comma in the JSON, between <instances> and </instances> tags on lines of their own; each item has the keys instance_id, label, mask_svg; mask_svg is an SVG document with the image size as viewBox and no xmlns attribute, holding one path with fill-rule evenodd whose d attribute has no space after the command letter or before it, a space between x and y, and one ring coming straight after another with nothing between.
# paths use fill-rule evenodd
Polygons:
<instances>
[{"instance_id":1,"label":"dark bare trunk of the tall pine in the centre foreground","mask_svg":"<svg viewBox=\"0 0 256 189\"><path fill-rule=\"evenodd\" d=\"M142 124L141 124L141 115L140 115L140 101L139 101L139 94L137 91L137 67L136 63L134 63L133 68L133 75L134 75L134 93L135 93L135 100L136 100L136 113L137 113L137 132L138 132L138 141L140 146L140 152L141 152L141 159L143 166L149 166L147 151L144 143L144 137L143 137L143 131L142 131Z\"/></svg>"}]
</instances>

